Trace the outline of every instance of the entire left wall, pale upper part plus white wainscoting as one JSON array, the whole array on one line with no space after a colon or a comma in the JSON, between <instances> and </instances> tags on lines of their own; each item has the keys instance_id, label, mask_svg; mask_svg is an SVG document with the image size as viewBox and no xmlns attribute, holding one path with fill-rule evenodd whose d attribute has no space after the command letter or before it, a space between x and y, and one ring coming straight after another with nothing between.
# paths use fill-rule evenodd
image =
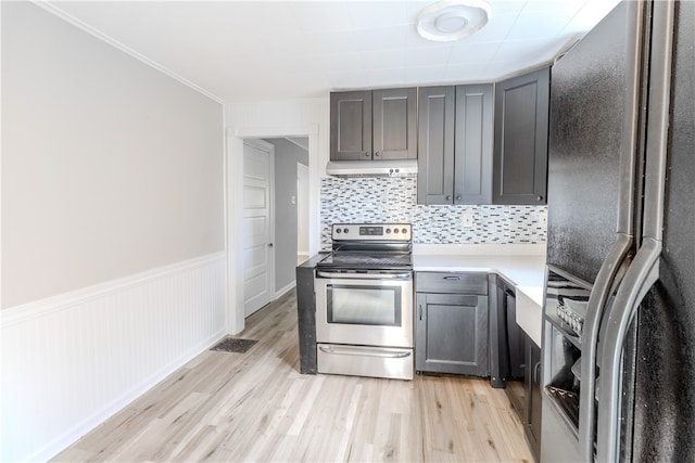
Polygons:
<instances>
[{"instance_id":1,"label":"entire left wall, pale upper part plus white wainscoting","mask_svg":"<svg viewBox=\"0 0 695 463\"><path fill-rule=\"evenodd\" d=\"M0 461L41 461L225 334L224 114L0 7Z\"/></svg>"}]
</instances>

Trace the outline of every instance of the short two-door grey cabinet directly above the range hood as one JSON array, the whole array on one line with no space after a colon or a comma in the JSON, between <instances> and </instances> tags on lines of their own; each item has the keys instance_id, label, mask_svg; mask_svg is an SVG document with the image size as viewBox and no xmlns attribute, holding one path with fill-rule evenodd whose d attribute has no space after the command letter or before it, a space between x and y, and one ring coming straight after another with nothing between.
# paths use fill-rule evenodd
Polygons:
<instances>
[{"instance_id":1,"label":"short two-door grey cabinet directly above the range hood","mask_svg":"<svg viewBox=\"0 0 695 463\"><path fill-rule=\"evenodd\" d=\"M417 158L417 89L330 94L330 159Z\"/></svg>"}]
</instances>

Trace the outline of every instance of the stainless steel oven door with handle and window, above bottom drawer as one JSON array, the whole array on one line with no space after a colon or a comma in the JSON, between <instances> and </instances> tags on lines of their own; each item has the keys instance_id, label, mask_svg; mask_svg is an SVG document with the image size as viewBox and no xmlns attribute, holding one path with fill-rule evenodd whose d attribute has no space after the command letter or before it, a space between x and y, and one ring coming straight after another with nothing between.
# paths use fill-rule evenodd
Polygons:
<instances>
[{"instance_id":1,"label":"stainless steel oven door with handle and window, above bottom drawer","mask_svg":"<svg viewBox=\"0 0 695 463\"><path fill-rule=\"evenodd\" d=\"M413 347L413 272L316 273L316 340Z\"/></svg>"}]
</instances>

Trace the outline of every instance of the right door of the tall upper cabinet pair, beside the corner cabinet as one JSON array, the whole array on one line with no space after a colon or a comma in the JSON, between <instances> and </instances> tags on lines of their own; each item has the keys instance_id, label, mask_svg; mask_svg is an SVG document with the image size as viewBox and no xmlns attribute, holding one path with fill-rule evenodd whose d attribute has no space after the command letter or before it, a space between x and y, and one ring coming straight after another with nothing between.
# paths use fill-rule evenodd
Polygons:
<instances>
[{"instance_id":1,"label":"right door of the tall upper cabinet pair, beside the corner cabinet","mask_svg":"<svg viewBox=\"0 0 695 463\"><path fill-rule=\"evenodd\" d=\"M492 86L456 87L454 204L492 203Z\"/></svg>"}]
</instances>

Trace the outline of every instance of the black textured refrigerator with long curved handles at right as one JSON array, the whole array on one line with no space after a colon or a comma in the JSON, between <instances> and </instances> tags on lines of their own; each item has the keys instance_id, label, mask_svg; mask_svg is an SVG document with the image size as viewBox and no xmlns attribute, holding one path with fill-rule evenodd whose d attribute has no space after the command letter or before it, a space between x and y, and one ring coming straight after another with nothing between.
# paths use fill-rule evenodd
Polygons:
<instances>
[{"instance_id":1,"label":"black textured refrigerator with long curved handles at right","mask_svg":"<svg viewBox=\"0 0 695 463\"><path fill-rule=\"evenodd\" d=\"M695 461L695 2L551 69L542 461Z\"/></svg>"}]
</instances>

